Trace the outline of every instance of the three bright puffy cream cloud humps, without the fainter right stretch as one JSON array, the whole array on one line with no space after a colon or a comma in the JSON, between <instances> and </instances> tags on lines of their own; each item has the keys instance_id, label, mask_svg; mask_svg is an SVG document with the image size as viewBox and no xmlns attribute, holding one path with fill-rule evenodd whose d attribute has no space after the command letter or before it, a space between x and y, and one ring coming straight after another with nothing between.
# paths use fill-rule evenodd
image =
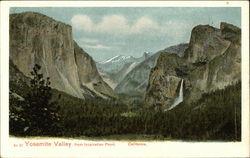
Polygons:
<instances>
[{"instance_id":1,"label":"three bright puffy cream cloud humps, without the fainter right stretch","mask_svg":"<svg viewBox=\"0 0 250 158\"><path fill-rule=\"evenodd\" d=\"M94 23L88 15L74 15L71 19L73 27L92 33L135 34L149 31L160 31L161 28L150 17L143 16L129 24L123 15L106 15L99 23Z\"/></svg>"}]
</instances>

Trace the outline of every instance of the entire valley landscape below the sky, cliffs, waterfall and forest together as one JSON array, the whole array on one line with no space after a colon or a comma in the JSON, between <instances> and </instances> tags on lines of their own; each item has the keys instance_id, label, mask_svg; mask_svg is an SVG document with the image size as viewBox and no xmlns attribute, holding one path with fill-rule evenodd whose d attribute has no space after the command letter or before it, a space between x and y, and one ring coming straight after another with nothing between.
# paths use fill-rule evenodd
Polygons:
<instances>
[{"instance_id":1,"label":"entire valley landscape below the sky, cliffs, waterfall and forest together","mask_svg":"<svg viewBox=\"0 0 250 158\"><path fill-rule=\"evenodd\" d=\"M221 22L190 34L96 62L70 25L10 14L10 135L240 141L241 29Z\"/></svg>"}]
</instances>

